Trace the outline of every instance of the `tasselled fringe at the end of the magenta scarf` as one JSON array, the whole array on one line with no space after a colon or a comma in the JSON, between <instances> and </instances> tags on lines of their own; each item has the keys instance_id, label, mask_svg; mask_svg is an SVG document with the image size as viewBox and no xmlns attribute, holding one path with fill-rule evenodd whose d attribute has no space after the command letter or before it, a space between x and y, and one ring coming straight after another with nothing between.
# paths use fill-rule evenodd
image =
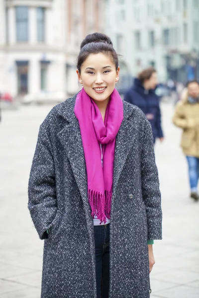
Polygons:
<instances>
[{"instance_id":1,"label":"tasselled fringe at the end of the magenta scarf","mask_svg":"<svg viewBox=\"0 0 199 298\"><path fill-rule=\"evenodd\" d=\"M94 219L95 215L101 223L106 223L106 218L110 220L112 190L105 190L104 193L99 193L89 189L88 191L89 204L91 205L91 215Z\"/></svg>"}]
</instances>

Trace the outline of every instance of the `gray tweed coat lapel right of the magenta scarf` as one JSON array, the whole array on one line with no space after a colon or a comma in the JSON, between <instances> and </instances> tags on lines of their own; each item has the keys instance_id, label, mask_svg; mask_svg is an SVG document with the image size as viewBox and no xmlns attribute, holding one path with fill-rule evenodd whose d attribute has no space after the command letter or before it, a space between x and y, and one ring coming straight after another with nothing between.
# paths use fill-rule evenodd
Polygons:
<instances>
[{"instance_id":1,"label":"gray tweed coat lapel right of the magenta scarf","mask_svg":"<svg viewBox=\"0 0 199 298\"><path fill-rule=\"evenodd\" d=\"M136 137L136 129L129 121L132 107L124 103L124 119L121 123L115 142L114 171L113 171L113 195L115 195L119 177L124 167L128 153L133 146Z\"/></svg>"}]
</instances>

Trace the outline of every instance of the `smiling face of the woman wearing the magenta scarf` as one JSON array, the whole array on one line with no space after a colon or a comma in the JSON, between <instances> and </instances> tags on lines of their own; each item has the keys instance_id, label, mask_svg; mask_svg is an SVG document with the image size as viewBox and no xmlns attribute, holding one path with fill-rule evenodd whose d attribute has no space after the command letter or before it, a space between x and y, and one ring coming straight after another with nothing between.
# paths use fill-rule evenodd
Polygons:
<instances>
[{"instance_id":1,"label":"smiling face of the woman wearing the magenta scarf","mask_svg":"<svg viewBox=\"0 0 199 298\"><path fill-rule=\"evenodd\" d=\"M81 66L81 74L78 70L77 74L90 97L95 101L105 101L109 99L119 79L119 68L116 71L109 55L90 54Z\"/></svg>"}]
</instances>

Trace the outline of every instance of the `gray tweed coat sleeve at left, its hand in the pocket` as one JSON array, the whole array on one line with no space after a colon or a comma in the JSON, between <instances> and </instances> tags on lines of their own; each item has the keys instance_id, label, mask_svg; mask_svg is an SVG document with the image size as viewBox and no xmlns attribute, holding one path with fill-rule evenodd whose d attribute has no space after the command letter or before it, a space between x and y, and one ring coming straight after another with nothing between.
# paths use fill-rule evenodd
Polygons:
<instances>
[{"instance_id":1,"label":"gray tweed coat sleeve at left, its hand in the pocket","mask_svg":"<svg viewBox=\"0 0 199 298\"><path fill-rule=\"evenodd\" d=\"M40 127L28 185L28 209L41 239L57 213L55 168L50 140Z\"/></svg>"}]
</instances>

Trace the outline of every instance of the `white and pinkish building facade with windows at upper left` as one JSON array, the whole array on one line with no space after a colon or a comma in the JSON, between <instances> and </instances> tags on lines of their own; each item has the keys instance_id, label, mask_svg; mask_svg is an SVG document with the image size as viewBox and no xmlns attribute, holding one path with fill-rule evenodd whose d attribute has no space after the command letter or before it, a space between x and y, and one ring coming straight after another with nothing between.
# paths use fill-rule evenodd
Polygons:
<instances>
[{"instance_id":1,"label":"white and pinkish building facade with windows at upper left","mask_svg":"<svg viewBox=\"0 0 199 298\"><path fill-rule=\"evenodd\" d=\"M63 100L79 89L82 39L104 31L103 0L0 0L0 92Z\"/></svg>"}]
</instances>

